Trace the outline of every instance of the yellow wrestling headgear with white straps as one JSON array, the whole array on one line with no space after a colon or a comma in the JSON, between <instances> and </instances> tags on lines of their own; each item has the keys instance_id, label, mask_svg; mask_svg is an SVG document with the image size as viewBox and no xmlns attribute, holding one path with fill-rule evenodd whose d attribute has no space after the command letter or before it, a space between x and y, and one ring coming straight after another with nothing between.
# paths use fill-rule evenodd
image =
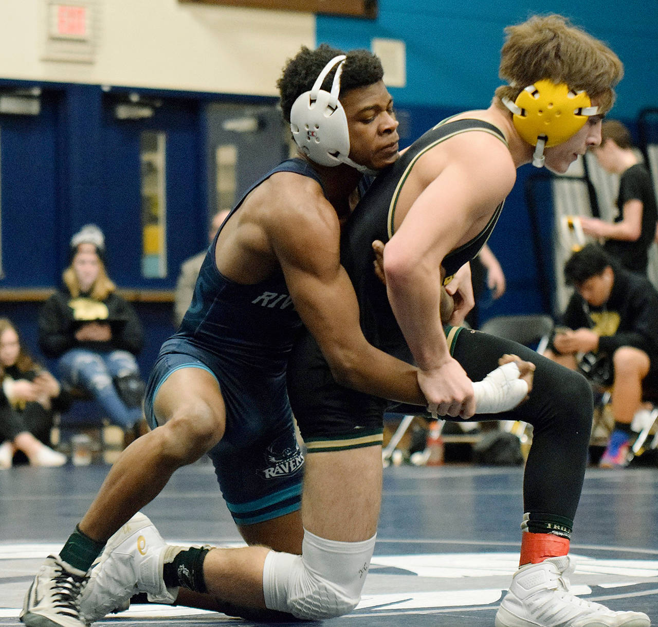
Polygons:
<instances>
[{"instance_id":1,"label":"yellow wrestling headgear with white straps","mask_svg":"<svg viewBox=\"0 0 658 627\"><path fill-rule=\"evenodd\" d=\"M591 106L586 92L547 79L526 87L514 102L503 98L503 104L514 114L512 121L521 138L535 146L532 165L538 168L544 165L544 148L566 142L599 109Z\"/></svg>"}]
</instances>

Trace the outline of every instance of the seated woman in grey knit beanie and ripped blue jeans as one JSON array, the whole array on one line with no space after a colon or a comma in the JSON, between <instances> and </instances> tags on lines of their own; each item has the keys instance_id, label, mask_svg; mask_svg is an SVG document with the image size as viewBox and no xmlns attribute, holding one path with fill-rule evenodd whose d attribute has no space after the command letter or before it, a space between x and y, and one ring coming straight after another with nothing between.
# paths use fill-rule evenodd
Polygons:
<instances>
[{"instance_id":1,"label":"seated woman in grey knit beanie and ripped blue jeans","mask_svg":"<svg viewBox=\"0 0 658 627\"><path fill-rule=\"evenodd\" d=\"M58 358L62 383L93 396L128 431L142 418L144 384L135 356L143 329L134 308L105 272L105 238L86 225L70 242L63 286L39 312L39 346Z\"/></svg>"}]
</instances>

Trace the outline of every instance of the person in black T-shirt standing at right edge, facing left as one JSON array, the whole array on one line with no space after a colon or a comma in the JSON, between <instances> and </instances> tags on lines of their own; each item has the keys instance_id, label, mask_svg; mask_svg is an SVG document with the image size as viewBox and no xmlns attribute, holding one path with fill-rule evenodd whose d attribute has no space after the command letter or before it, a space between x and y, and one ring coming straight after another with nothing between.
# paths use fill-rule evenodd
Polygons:
<instances>
[{"instance_id":1,"label":"person in black T-shirt standing at right edge, facing left","mask_svg":"<svg viewBox=\"0 0 658 627\"><path fill-rule=\"evenodd\" d=\"M617 120L601 126L601 144L592 150L601 167L621 175L617 217L613 223L598 218L581 218L587 235L605 240L603 248L623 267L647 273L648 250L656 234L656 197L651 175L633 150L628 128Z\"/></svg>"}]
</instances>

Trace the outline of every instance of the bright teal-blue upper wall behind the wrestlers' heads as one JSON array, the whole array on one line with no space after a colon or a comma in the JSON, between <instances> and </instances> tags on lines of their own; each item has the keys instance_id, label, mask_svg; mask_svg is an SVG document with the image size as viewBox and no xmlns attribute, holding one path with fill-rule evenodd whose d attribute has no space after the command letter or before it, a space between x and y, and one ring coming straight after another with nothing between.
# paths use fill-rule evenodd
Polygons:
<instances>
[{"instance_id":1,"label":"bright teal-blue upper wall behind the wrestlers' heads","mask_svg":"<svg viewBox=\"0 0 658 627\"><path fill-rule=\"evenodd\" d=\"M318 16L316 40L344 49L370 48L374 37L405 41L407 86L392 88L397 105L485 107L498 76L503 29L532 14L559 13L605 41L626 66L615 115L634 118L658 103L658 3L628 0L506 2L379 0L376 20Z\"/></svg>"}]
</instances>

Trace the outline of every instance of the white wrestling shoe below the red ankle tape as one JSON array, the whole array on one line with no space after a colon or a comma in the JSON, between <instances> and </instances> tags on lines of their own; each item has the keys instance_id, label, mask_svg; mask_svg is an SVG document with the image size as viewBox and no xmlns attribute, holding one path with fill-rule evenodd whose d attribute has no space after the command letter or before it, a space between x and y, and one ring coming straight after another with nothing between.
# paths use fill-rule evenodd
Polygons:
<instances>
[{"instance_id":1,"label":"white wrestling shoe below the red ankle tape","mask_svg":"<svg viewBox=\"0 0 658 627\"><path fill-rule=\"evenodd\" d=\"M495 616L495 627L649 627L642 612L613 612L569 592L574 562L551 557L517 570Z\"/></svg>"}]
</instances>

